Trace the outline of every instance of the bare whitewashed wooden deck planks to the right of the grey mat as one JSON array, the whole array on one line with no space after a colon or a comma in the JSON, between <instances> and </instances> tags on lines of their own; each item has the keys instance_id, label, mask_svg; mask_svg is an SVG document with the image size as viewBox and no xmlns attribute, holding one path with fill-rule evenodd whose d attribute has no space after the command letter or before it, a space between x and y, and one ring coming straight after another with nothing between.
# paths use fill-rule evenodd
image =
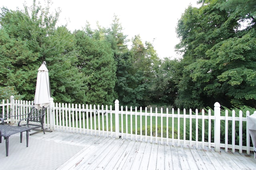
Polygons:
<instances>
[{"instance_id":1,"label":"bare whitewashed wooden deck planks to the right of the grey mat","mask_svg":"<svg viewBox=\"0 0 256 170\"><path fill-rule=\"evenodd\" d=\"M66 134L67 135L67 134ZM86 138L86 135L85 135ZM81 141L83 143L83 140ZM175 143L131 141L112 137L93 138L86 141L84 149L70 158L58 170L241 170L256 169L253 154L214 152L213 148L177 146Z\"/></svg>"}]
</instances>

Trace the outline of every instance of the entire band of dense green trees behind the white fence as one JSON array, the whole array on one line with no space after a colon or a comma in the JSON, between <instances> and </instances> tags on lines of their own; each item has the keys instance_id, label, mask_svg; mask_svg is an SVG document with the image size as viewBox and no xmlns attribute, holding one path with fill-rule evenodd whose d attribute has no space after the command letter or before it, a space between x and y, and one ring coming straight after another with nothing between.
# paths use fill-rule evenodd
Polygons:
<instances>
[{"instance_id":1,"label":"entire band of dense green trees behind the white fence","mask_svg":"<svg viewBox=\"0 0 256 170\"><path fill-rule=\"evenodd\" d=\"M203 108L218 101L256 107L256 2L198 3L200 8L188 6L178 21L179 60L159 59L139 35L128 40L117 16L110 28L86 23L70 32L57 27L60 10L50 13L50 1L42 7L34 0L24 10L2 7L0 89L33 100L37 69L46 61L55 102L113 105L118 99L124 106Z\"/></svg>"}]
</instances>

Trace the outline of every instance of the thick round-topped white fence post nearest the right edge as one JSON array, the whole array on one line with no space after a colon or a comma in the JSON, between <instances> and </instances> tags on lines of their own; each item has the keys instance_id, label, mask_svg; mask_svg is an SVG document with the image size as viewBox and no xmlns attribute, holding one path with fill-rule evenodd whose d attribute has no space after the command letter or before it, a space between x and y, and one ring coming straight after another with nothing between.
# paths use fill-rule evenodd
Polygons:
<instances>
[{"instance_id":1,"label":"thick round-topped white fence post nearest the right edge","mask_svg":"<svg viewBox=\"0 0 256 170\"><path fill-rule=\"evenodd\" d=\"M220 152L220 104L214 104L214 144L215 152Z\"/></svg>"}]
</instances>

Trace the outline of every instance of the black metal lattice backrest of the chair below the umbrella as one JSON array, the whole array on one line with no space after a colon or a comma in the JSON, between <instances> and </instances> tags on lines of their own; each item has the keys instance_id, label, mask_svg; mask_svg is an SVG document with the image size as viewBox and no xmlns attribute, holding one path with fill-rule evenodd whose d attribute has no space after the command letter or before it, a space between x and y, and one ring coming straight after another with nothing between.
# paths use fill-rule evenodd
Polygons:
<instances>
[{"instance_id":1,"label":"black metal lattice backrest of the chair below the umbrella","mask_svg":"<svg viewBox=\"0 0 256 170\"><path fill-rule=\"evenodd\" d=\"M36 109L36 107L32 107L30 113L28 113L27 123L32 121L32 122L38 122L38 123L43 124L44 123L45 110L46 110L46 107L43 107L40 110Z\"/></svg>"}]
</instances>

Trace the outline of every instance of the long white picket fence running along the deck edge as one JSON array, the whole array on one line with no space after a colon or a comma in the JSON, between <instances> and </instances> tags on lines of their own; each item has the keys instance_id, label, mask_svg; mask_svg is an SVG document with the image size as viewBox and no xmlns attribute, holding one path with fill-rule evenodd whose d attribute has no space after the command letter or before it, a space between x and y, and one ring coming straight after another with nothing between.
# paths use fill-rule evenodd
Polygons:
<instances>
[{"instance_id":1,"label":"long white picket fence running along the deck edge","mask_svg":"<svg viewBox=\"0 0 256 170\"><path fill-rule=\"evenodd\" d=\"M7 119L7 123L17 123L25 113L28 113L33 106L33 102L14 100L11 96L10 100L2 100L1 117L16 115L15 119ZM206 113L207 112L207 113ZM232 152L239 150L242 153L246 150L247 154L253 151L250 147L250 135L247 126L247 116L243 117L242 111L239 112L239 117L235 116L235 111L232 111L232 116L228 116L228 110L225 115L220 115L220 104L214 104L214 111L209 109L195 113L190 109L177 111L156 108L147 110L142 107L128 108L119 106L119 101L115 101L114 108L112 106L95 106L95 105L77 105L77 104L60 104L53 100L46 110L45 129L50 131L67 131L72 133L84 133L98 136L109 136L116 138L125 138L136 141L150 141L151 143L171 142L180 146L183 145L201 145L203 148L214 147L216 151L224 148L226 151L231 149ZM256 111L254 111L256 113ZM238 122L238 123L237 123ZM222 126L221 126L222 123ZM224 125L223 125L224 123ZM228 131L228 125L231 123L232 131ZM243 123L246 123L246 137L243 138ZM236 124L239 124L239 133L236 135ZM167 128L168 127L168 128ZM176 128L175 128L176 127ZM200 128L199 128L200 127ZM221 127L224 127L225 142L221 143L220 133ZM172 129L177 129L174 131ZM202 129L199 131L199 129ZM214 133L213 133L213 131ZM222 129L223 130L223 129ZM232 143L228 143L228 134L232 134ZM199 136L200 139L199 139ZM235 143L235 139L239 137L239 144ZM193 138L193 139L192 139ZM242 144L246 140L246 145ZM222 140L223 141L223 140Z\"/></svg>"}]
</instances>

